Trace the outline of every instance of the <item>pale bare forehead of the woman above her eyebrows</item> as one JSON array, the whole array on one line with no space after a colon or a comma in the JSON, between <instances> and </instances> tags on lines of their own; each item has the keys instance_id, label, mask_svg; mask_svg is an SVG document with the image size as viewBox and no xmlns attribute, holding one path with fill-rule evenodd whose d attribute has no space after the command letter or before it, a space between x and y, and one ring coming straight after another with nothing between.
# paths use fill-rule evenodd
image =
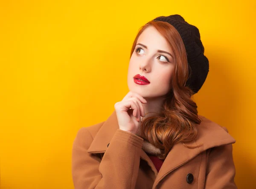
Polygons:
<instances>
[{"instance_id":1,"label":"pale bare forehead of the woman above her eyebrows","mask_svg":"<svg viewBox=\"0 0 256 189\"><path fill-rule=\"evenodd\" d=\"M172 52L172 48L166 39L154 28L148 26L139 36L137 43L142 43L148 46L148 49L160 49L163 51Z\"/></svg>"}]
</instances>

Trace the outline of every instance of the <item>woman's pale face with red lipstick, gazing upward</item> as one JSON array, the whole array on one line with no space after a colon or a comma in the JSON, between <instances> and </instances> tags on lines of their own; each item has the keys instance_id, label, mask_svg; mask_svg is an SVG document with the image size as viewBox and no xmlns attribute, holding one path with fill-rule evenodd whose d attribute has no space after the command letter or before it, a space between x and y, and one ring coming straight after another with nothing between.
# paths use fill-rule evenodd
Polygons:
<instances>
[{"instance_id":1,"label":"woman's pale face with red lipstick, gazing upward","mask_svg":"<svg viewBox=\"0 0 256 189\"><path fill-rule=\"evenodd\" d=\"M174 69L175 56L172 48L154 26L149 26L140 34L131 56L128 88L146 98L164 96L171 89ZM137 74L146 77L150 83L134 80Z\"/></svg>"}]
</instances>

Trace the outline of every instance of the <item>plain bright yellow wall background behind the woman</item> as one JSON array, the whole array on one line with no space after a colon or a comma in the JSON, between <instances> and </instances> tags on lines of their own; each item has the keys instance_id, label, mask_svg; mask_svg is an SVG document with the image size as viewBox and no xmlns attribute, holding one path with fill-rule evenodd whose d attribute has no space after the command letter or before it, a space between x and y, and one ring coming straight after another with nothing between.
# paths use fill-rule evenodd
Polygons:
<instances>
[{"instance_id":1,"label":"plain bright yellow wall background behind the woman","mask_svg":"<svg viewBox=\"0 0 256 189\"><path fill-rule=\"evenodd\" d=\"M0 3L1 189L70 189L71 149L82 126L108 118L128 92L140 26L181 14L197 26L210 71L199 114L236 139L236 183L256 188L253 0Z\"/></svg>"}]
</instances>

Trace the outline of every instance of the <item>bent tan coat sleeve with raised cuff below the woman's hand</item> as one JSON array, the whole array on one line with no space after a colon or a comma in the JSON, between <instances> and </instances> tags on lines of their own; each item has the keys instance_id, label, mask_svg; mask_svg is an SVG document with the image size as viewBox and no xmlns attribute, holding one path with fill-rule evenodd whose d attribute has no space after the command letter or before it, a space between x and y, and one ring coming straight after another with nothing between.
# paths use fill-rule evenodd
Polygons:
<instances>
[{"instance_id":1,"label":"bent tan coat sleeve with raised cuff below the woman's hand","mask_svg":"<svg viewBox=\"0 0 256 189\"><path fill-rule=\"evenodd\" d=\"M101 159L87 152L92 136L81 128L73 142L72 177L75 189L134 189L143 138L117 129Z\"/></svg>"}]
</instances>

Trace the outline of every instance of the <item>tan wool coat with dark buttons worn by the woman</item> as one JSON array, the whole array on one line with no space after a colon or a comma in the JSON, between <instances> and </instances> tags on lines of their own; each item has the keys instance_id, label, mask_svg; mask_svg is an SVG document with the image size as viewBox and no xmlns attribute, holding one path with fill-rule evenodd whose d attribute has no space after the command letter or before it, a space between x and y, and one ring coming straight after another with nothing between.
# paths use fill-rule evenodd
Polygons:
<instances>
[{"instance_id":1,"label":"tan wool coat with dark buttons worn by the woman","mask_svg":"<svg viewBox=\"0 0 256 189\"><path fill-rule=\"evenodd\" d=\"M232 144L227 129L202 115L189 146L172 147L159 172L143 151L143 139L119 129L116 112L81 128L73 142L75 189L237 189Z\"/></svg>"}]
</instances>

